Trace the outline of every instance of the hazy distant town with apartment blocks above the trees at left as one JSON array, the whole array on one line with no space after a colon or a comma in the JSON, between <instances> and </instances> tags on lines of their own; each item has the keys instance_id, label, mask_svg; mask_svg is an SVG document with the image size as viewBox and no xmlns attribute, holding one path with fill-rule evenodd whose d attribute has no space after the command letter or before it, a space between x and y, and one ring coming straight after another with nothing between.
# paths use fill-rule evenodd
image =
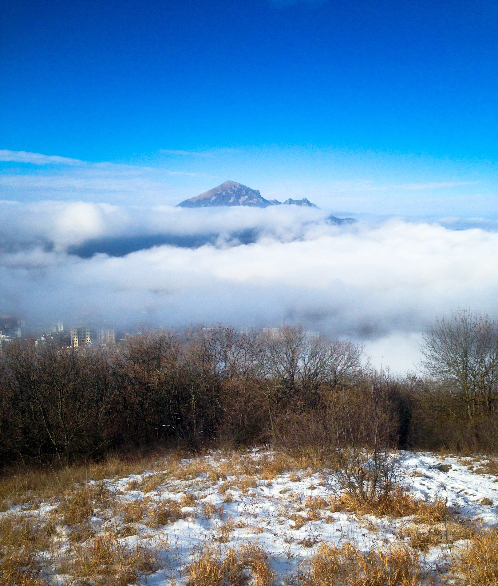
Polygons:
<instances>
[{"instance_id":1,"label":"hazy distant town with apartment blocks above the trees at left","mask_svg":"<svg viewBox=\"0 0 498 586\"><path fill-rule=\"evenodd\" d=\"M61 320L29 323L15 315L0 315L0 353L14 340L32 340L35 346L51 342L77 349L90 345L115 344L123 336L116 336L116 331L111 328L87 324L70 325L69 328L65 328Z\"/></svg>"}]
</instances>

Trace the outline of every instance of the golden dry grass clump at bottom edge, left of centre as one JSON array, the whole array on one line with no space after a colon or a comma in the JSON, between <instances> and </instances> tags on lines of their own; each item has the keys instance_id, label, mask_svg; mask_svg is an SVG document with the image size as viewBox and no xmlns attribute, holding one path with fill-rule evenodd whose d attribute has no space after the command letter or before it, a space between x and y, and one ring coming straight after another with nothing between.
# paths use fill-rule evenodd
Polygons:
<instances>
[{"instance_id":1,"label":"golden dry grass clump at bottom edge, left of centre","mask_svg":"<svg viewBox=\"0 0 498 586\"><path fill-rule=\"evenodd\" d=\"M73 583L84 586L138 584L140 577L160 568L157 553L141 546L121 543L107 532L73 548L73 556L57 571L69 574Z\"/></svg>"}]
</instances>

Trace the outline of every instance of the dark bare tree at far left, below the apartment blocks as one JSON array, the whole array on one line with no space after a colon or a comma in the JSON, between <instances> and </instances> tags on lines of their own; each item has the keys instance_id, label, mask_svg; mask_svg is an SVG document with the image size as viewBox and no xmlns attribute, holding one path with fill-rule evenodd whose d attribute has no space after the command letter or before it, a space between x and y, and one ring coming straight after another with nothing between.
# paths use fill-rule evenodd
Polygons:
<instances>
[{"instance_id":1,"label":"dark bare tree at far left, below the apartment blocks","mask_svg":"<svg viewBox=\"0 0 498 586\"><path fill-rule=\"evenodd\" d=\"M20 343L9 348L4 369L20 454L45 451L65 463L100 449L112 394L105 356Z\"/></svg>"}]
</instances>

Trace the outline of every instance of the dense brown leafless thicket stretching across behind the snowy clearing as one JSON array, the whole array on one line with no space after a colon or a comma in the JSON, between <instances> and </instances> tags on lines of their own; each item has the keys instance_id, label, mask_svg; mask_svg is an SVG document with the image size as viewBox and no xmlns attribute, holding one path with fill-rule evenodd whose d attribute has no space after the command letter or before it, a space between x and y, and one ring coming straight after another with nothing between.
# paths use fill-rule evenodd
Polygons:
<instances>
[{"instance_id":1,"label":"dense brown leafless thicket stretching across behind the snowy clearing","mask_svg":"<svg viewBox=\"0 0 498 586\"><path fill-rule=\"evenodd\" d=\"M496 451L494 373L486 391L479 379L469 417L461 377L438 376L437 333L425 347L431 379L375 372L360 346L299 327L147 331L80 350L12 343L0 357L0 458L65 463L157 444L328 449L380 437L392 447Z\"/></svg>"}]
</instances>

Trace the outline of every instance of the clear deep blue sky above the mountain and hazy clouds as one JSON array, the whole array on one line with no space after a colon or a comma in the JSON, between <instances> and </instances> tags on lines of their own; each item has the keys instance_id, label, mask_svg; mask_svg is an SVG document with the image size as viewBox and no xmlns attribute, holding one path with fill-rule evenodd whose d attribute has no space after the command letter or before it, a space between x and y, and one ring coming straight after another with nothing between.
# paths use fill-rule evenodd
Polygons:
<instances>
[{"instance_id":1,"label":"clear deep blue sky above the mountain and hazy clouds","mask_svg":"<svg viewBox=\"0 0 498 586\"><path fill-rule=\"evenodd\" d=\"M212 170L185 179L190 196L228 178L270 196L292 169L316 179L327 152L339 180L487 197L497 19L492 0L7 0L0 148L159 167L162 150L243 151L225 168L167 153L168 168Z\"/></svg>"}]
</instances>

